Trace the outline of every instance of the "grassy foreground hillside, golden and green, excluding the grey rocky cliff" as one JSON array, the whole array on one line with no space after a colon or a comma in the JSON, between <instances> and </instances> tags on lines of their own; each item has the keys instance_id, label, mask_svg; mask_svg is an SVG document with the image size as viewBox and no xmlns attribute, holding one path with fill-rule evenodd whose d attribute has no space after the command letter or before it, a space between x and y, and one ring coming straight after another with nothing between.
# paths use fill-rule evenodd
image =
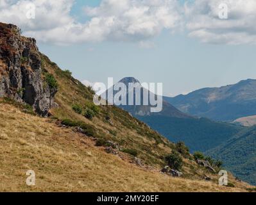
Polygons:
<instances>
[{"instance_id":1,"label":"grassy foreground hillside, golden and green, excluding the grey rocky cliff","mask_svg":"<svg viewBox=\"0 0 256 205\"><path fill-rule=\"evenodd\" d=\"M90 88L43 54L41 58L42 78L58 86L55 107L45 119L26 104L0 100L1 191L243 192L250 187L234 177L235 188L218 186L218 174L191 156L182 157L181 178L161 174L175 144L115 106L94 108ZM84 116L87 110L97 110L92 119ZM107 140L118 143L121 151L107 154ZM32 188L25 184L30 169L37 177Z\"/></svg>"}]
</instances>

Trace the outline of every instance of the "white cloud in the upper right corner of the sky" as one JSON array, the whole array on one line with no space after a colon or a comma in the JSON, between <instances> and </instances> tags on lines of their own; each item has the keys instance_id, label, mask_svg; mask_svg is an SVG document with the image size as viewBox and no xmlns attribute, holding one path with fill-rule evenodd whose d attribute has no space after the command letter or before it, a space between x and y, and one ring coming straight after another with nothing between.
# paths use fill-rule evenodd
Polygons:
<instances>
[{"instance_id":1,"label":"white cloud in the upper right corner of the sky","mask_svg":"<svg viewBox=\"0 0 256 205\"><path fill-rule=\"evenodd\" d=\"M228 6L228 19L219 19L219 4ZM185 6L190 37L212 44L256 44L255 0L195 0Z\"/></svg>"}]
</instances>

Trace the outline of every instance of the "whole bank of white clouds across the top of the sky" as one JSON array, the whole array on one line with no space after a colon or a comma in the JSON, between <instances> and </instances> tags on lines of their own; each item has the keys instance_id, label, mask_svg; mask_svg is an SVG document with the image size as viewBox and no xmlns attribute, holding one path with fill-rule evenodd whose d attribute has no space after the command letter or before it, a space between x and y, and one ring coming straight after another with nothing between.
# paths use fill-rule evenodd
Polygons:
<instances>
[{"instance_id":1,"label":"whole bank of white clouds across the top of the sky","mask_svg":"<svg viewBox=\"0 0 256 205\"><path fill-rule=\"evenodd\" d=\"M189 3L190 2L190 3ZM28 4L35 19L28 19ZM191 38L210 44L255 44L255 0L102 0L85 6L89 17L78 22L71 10L74 0L0 0L0 21L17 24L24 35L43 42L138 42L153 47L151 38L162 31L183 29ZM228 6L228 19L219 19L219 4Z\"/></svg>"}]
</instances>

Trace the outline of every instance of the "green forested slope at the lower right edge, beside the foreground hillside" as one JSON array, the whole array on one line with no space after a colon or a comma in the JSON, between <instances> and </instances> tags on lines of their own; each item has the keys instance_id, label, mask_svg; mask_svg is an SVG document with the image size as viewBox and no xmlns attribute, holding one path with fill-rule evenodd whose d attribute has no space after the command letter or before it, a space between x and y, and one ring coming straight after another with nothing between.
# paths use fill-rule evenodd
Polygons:
<instances>
[{"instance_id":1,"label":"green forested slope at the lower right edge, beside the foreground hillside","mask_svg":"<svg viewBox=\"0 0 256 205\"><path fill-rule=\"evenodd\" d=\"M256 126L244 129L207 154L224 161L235 176L256 184Z\"/></svg>"}]
</instances>

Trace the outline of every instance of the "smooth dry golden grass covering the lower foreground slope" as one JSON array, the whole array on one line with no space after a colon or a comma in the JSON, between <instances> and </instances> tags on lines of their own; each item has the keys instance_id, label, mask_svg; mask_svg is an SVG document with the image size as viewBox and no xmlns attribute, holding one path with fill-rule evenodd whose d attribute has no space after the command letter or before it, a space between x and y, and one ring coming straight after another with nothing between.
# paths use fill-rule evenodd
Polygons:
<instances>
[{"instance_id":1,"label":"smooth dry golden grass covering the lower foreground slope","mask_svg":"<svg viewBox=\"0 0 256 205\"><path fill-rule=\"evenodd\" d=\"M143 170L72 129L0 105L1 192L244 192L248 186L226 188ZM30 169L35 186L26 185Z\"/></svg>"}]
</instances>

